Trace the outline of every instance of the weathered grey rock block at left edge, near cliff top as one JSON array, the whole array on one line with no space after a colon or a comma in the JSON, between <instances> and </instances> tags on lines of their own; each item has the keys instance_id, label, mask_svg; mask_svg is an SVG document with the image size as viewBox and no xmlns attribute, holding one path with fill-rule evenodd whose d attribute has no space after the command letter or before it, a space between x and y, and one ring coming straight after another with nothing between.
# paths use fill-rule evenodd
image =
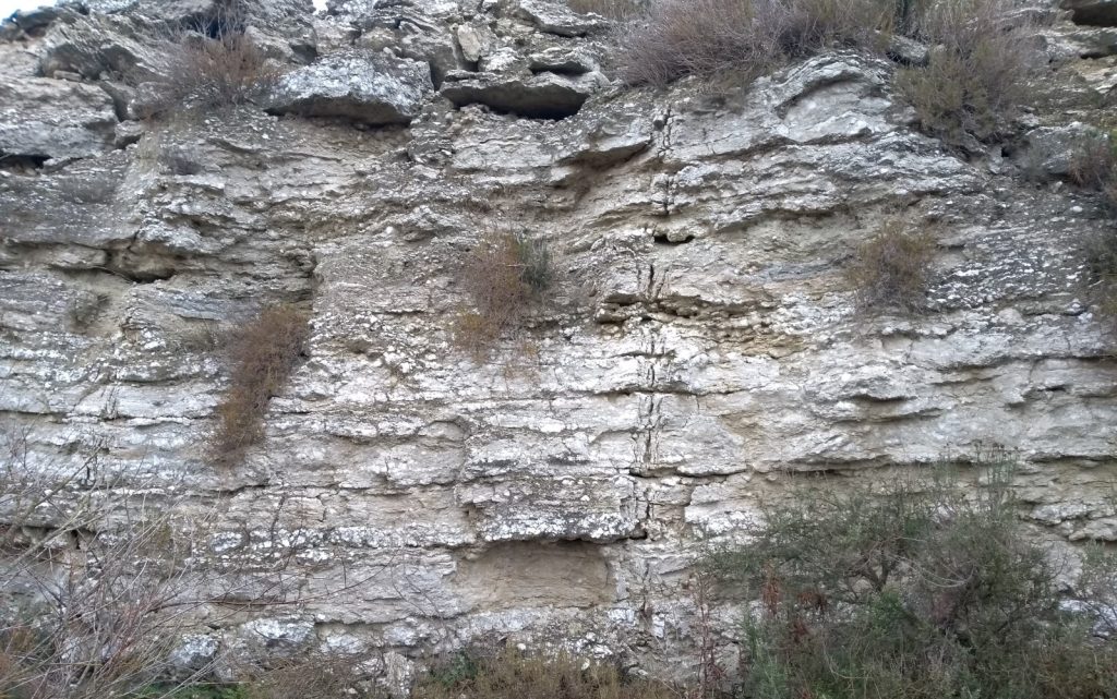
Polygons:
<instances>
[{"instance_id":1,"label":"weathered grey rock block at left edge, near cliff top","mask_svg":"<svg viewBox=\"0 0 1117 699\"><path fill-rule=\"evenodd\" d=\"M28 157L87 157L113 147L116 114L99 87L0 78L0 153Z\"/></svg>"}]
</instances>

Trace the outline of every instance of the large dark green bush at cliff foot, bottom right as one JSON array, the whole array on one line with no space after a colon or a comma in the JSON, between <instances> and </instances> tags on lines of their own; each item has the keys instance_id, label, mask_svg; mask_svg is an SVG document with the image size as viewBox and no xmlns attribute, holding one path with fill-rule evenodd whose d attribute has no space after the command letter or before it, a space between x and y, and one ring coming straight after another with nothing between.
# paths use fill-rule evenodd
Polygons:
<instances>
[{"instance_id":1,"label":"large dark green bush at cliff foot, bottom right","mask_svg":"<svg viewBox=\"0 0 1117 699\"><path fill-rule=\"evenodd\" d=\"M1117 639L1062 609L1049 552L1022 530L1003 471L992 480L802 489L747 548L715 556L722 580L760 601L745 696L1117 696Z\"/></svg>"}]
</instances>

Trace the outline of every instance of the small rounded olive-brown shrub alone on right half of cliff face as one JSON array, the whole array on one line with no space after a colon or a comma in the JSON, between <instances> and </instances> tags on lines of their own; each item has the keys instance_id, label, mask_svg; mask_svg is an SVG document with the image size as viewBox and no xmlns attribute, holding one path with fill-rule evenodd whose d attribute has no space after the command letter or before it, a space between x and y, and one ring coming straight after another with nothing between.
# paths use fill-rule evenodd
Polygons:
<instances>
[{"instance_id":1,"label":"small rounded olive-brown shrub alone on right half of cliff face","mask_svg":"<svg viewBox=\"0 0 1117 699\"><path fill-rule=\"evenodd\" d=\"M934 257L935 241L928 233L887 221L858 247L846 278L862 307L915 310L926 295Z\"/></svg>"}]
</instances>

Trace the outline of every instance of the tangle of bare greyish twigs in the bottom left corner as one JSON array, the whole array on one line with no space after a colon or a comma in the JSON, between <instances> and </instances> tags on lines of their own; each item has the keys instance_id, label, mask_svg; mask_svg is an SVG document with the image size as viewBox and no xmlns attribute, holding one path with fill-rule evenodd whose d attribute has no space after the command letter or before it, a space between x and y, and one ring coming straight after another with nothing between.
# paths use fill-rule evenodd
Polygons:
<instances>
[{"instance_id":1,"label":"tangle of bare greyish twigs in the bottom left corner","mask_svg":"<svg viewBox=\"0 0 1117 699\"><path fill-rule=\"evenodd\" d=\"M0 424L0 697L128 696L174 673L202 606L207 516L182 514L181 483L104 469L98 448L45 456Z\"/></svg>"}]
</instances>

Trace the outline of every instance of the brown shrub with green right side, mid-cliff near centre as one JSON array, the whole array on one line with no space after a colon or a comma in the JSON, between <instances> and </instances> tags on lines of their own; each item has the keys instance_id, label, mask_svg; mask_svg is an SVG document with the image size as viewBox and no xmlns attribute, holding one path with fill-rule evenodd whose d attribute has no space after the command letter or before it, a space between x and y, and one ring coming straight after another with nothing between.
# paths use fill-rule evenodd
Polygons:
<instances>
[{"instance_id":1,"label":"brown shrub with green right side, mid-cliff near centre","mask_svg":"<svg viewBox=\"0 0 1117 699\"><path fill-rule=\"evenodd\" d=\"M461 285L472 308L458 313L455 341L475 355L515 331L553 278L546 245L508 232L486 233L469 252Z\"/></svg>"}]
</instances>

